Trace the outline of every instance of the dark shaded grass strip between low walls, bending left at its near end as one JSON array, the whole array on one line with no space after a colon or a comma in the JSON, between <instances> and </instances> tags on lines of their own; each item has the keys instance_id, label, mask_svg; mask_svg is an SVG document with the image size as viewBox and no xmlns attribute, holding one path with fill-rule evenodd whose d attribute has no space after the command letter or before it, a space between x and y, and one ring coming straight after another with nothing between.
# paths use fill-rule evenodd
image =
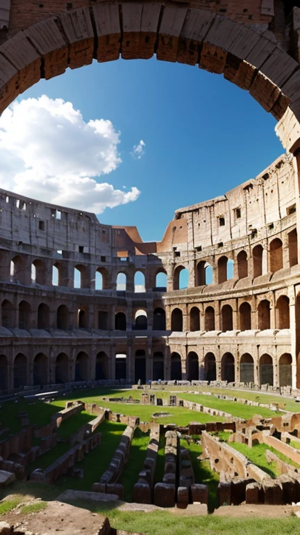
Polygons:
<instances>
[{"instance_id":1,"label":"dark shaded grass strip between low walls, bending left at its near end","mask_svg":"<svg viewBox=\"0 0 300 535\"><path fill-rule=\"evenodd\" d=\"M56 481L56 486L63 491L67 488L74 490L92 490L92 484L100 481L103 472L106 471L110 459L119 445L122 433L126 426L113 421L105 420L101 424L101 442L99 446L85 453L83 460L76 463L76 468L83 469L83 479L75 479L70 476L61 476Z\"/></svg>"}]
</instances>

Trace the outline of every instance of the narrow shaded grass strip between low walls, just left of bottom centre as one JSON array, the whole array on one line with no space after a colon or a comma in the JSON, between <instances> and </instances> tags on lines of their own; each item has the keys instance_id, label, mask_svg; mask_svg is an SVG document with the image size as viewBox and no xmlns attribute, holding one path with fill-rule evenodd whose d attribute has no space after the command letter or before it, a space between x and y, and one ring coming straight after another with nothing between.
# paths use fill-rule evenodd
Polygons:
<instances>
[{"instance_id":1,"label":"narrow shaded grass strip between low walls, just left of bottom centre","mask_svg":"<svg viewBox=\"0 0 300 535\"><path fill-rule=\"evenodd\" d=\"M126 502L133 502L133 486L138 481L138 474L144 465L148 444L149 433L143 433L139 428L136 428L131 442L128 462L119 480L119 483L124 486Z\"/></svg>"}]
</instances>

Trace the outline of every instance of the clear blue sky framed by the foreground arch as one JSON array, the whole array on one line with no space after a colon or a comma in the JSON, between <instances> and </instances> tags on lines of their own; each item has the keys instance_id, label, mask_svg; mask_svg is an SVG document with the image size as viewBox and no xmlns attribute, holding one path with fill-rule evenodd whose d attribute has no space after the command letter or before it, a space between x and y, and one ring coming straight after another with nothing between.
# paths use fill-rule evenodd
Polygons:
<instances>
[{"instance_id":1,"label":"clear blue sky framed by the foreground arch","mask_svg":"<svg viewBox=\"0 0 300 535\"><path fill-rule=\"evenodd\" d=\"M94 62L39 82L22 99L43 94L72 102L84 121L108 119L120 131L122 163L99 182L141 193L99 219L138 226L145 241L161 240L177 208L224 194L284 152L276 121L249 93L197 67L156 59ZM131 152L141 139L138 160Z\"/></svg>"}]
</instances>

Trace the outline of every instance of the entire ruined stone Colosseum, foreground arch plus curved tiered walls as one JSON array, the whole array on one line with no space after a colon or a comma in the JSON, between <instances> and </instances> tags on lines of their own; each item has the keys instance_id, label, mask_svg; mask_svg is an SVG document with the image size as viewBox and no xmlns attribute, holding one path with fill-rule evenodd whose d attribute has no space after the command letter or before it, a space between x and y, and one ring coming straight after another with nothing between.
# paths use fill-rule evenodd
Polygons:
<instances>
[{"instance_id":1,"label":"entire ruined stone Colosseum, foreground arch plus curved tiered walls","mask_svg":"<svg viewBox=\"0 0 300 535\"><path fill-rule=\"evenodd\" d=\"M156 54L249 91L286 150L224 196L176 210L161 242L1 190L2 390L103 380L300 388L296 4L0 0L0 111L68 67Z\"/></svg>"}]
</instances>

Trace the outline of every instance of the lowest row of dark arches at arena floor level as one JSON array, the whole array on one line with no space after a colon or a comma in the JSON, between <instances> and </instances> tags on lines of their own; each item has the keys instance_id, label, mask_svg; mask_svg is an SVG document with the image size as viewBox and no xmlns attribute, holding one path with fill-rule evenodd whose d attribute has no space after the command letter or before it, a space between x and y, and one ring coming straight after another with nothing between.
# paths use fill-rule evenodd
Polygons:
<instances>
[{"instance_id":1,"label":"lowest row of dark arches at arena floor level","mask_svg":"<svg viewBox=\"0 0 300 535\"><path fill-rule=\"evenodd\" d=\"M134 355L133 380L145 383L147 380L147 358L145 350L136 350ZM152 379L165 380L165 358L163 352L156 351L152 356ZM206 353L203 363L199 366L199 357L196 352L190 351L186 362L186 378L192 380L223 380L227 382L255 382L255 369L253 357L249 353L244 353L240 357L238 365L239 377L235 377L235 359L231 352L226 352L222 356L220 366L220 376L217 374L217 361L213 352ZM13 388L17 389L28 384L28 359L26 355L19 352L12 364ZM278 381L280 387L292 385L292 356L290 353L283 353L278 359ZM110 359L106 352L98 352L95 361L95 369L90 369L90 357L86 352L78 352L74 366L71 359L65 352L60 352L54 363L53 376L51 381L64 383L69 381L108 380L111 378ZM274 385L274 362L270 355L263 354L258 361L258 384ZM126 380L128 378L127 355L117 353L115 355L115 379ZM182 380L182 359L177 352L170 355L170 379ZM49 383L49 361L42 352L35 355L33 359L33 385L45 385ZM8 389L8 359L5 355L0 355L0 389Z\"/></svg>"}]
</instances>

